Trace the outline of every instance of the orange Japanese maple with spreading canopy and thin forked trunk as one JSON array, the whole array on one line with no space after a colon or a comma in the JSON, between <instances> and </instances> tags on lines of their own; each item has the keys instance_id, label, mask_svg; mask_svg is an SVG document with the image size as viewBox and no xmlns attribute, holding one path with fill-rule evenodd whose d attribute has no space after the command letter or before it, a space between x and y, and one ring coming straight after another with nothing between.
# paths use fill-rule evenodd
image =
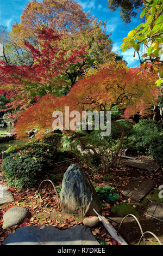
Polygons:
<instances>
[{"instance_id":1,"label":"orange Japanese maple with spreading canopy and thin forked trunk","mask_svg":"<svg viewBox=\"0 0 163 256\"><path fill-rule=\"evenodd\" d=\"M26 136L26 130L33 127L39 128L37 136L42 136L46 129L52 129L53 111L60 110L64 114L65 106L69 106L70 111L103 110L106 115L106 111L111 110L112 106L116 104L120 108L126 109L124 111L125 117L136 114L137 111L146 114L151 102L156 104L157 100L155 96L156 85L154 84L155 75L145 72L144 75L139 76L136 74L139 70L116 70L110 66L89 78L79 80L67 96L56 98L47 95L42 97L40 102L24 111L20 116L16 124L18 137ZM92 150L101 159L104 173L116 164L124 138L123 127L115 121L111 122L121 129L121 139L115 156L107 168L101 154L93 146L85 146L82 138L75 131L71 131L78 136L82 150Z\"/></svg>"}]
</instances>

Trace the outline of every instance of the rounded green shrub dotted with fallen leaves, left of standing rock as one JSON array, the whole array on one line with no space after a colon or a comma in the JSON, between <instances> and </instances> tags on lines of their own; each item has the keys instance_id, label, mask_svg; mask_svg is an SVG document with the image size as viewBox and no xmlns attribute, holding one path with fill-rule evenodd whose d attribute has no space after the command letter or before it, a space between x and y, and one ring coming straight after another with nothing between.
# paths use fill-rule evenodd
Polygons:
<instances>
[{"instance_id":1,"label":"rounded green shrub dotted with fallen leaves, left of standing rock","mask_svg":"<svg viewBox=\"0 0 163 256\"><path fill-rule=\"evenodd\" d=\"M15 187L33 187L48 176L48 169L58 161L54 147L43 142L12 146L3 160L7 183Z\"/></svg>"}]
</instances>

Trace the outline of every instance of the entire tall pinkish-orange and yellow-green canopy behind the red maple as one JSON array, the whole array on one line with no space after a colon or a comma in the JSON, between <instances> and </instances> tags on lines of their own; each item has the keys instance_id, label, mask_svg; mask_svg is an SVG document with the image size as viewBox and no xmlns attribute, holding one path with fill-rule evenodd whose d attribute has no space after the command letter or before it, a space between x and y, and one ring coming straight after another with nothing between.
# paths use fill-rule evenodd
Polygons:
<instances>
[{"instance_id":1,"label":"entire tall pinkish-orange and yellow-green canopy behind the red maple","mask_svg":"<svg viewBox=\"0 0 163 256\"><path fill-rule=\"evenodd\" d=\"M66 70L67 87L62 93L68 93L87 68L102 64L109 58L112 49L110 33L106 34L105 22L98 21L85 13L82 5L74 0L30 1L23 10L20 24L12 26L11 41L24 51L24 40L37 47L35 36L37 29L52 28L56 33L64 34L60 46L64 49L78 50L87 46L87 57L82 62L71 64ZM68 85L69 84L69 85Z\"/></svg>"}]
</instances>

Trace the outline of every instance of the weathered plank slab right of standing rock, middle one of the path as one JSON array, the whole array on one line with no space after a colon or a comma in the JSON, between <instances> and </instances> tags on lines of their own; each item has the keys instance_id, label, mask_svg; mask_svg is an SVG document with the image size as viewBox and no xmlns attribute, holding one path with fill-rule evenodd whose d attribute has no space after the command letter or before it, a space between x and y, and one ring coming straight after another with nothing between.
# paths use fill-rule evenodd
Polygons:
<instances>
[{"instance_id":1,"label":"weathered plank slab right of standing rock, middle one of the path","mask_svg":"<svg viewBox=\"0 0 163 256\"><path fill-rule=\"evenodd\" d=\"M139 202L154 186L155 182L153 181L137 179L121 189L120 192L126 197Z\"/></svg>"}]
</instances>

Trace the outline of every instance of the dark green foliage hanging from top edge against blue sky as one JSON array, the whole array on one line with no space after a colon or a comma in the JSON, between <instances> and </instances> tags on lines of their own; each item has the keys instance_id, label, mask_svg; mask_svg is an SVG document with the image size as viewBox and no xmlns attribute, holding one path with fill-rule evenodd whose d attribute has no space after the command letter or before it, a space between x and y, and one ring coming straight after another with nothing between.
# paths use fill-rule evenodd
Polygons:
<instances>
[{"instance_id":1,"label":"dark green foliage hanging from top edge against blue sky","mask_svg":"<svg viewBox=\"0 0 163 256\"><path fill-rule=\"evenodd\" d=\"M121 18L124 23L130 23L131 17L136 17L136 9L143 5L142 0L108 0L108 8L111 11L121 8Z\"/></svg>"}]
</instances>

